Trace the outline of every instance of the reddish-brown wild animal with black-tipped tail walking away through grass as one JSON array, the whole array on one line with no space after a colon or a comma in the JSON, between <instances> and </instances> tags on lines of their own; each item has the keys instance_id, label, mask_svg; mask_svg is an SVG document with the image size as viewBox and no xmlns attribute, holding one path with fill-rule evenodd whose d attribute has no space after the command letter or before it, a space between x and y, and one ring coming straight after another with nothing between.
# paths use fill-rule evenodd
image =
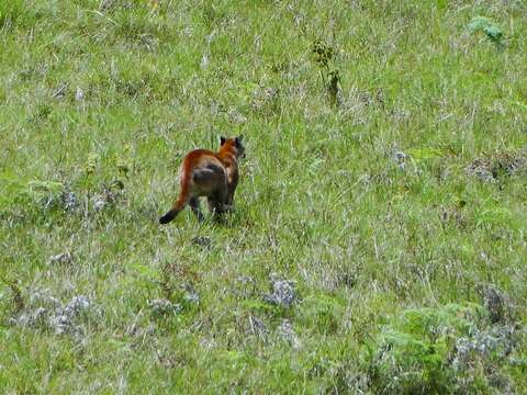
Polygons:
<instances>
[{"instance_id":1,"label":"reddish-brown wild animal with black-tipped tail walking away through grass","mask_svg":"<svg viewBox=\"0 0 527 395\"><path fill-rule=\"evenodd\" d=\"M209 149L194 149L187 154L179 176L179 198L172 207L159 218L159 224L168 224L189 205L199 222L204 219L199 198L206 196L209 210L214 217L233 210L234 192L238 185L238 160L245 158L243 135L220 137L217 153Z\"/></svg>"}]
</instances>

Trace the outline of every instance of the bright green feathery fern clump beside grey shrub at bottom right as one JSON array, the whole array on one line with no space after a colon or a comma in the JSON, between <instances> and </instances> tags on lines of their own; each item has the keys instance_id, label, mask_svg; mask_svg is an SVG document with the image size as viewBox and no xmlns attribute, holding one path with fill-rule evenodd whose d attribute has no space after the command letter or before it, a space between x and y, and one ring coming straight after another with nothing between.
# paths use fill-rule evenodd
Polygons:
<instances>
[{"instance_id":1,"label":"bright green feathery fern clump beside grey shrub at bottom right","mask_svg":"<svg viewBox=\"0 0 527 395\"><path fill-rule=\"evenodd\" d=\"M474 327L476 307L447 305L403 312L386 325L375 345L372 379L388 393L431 392L447 388L453 372L448 358L457 336Z\"/></svg>"}]
</instances>

